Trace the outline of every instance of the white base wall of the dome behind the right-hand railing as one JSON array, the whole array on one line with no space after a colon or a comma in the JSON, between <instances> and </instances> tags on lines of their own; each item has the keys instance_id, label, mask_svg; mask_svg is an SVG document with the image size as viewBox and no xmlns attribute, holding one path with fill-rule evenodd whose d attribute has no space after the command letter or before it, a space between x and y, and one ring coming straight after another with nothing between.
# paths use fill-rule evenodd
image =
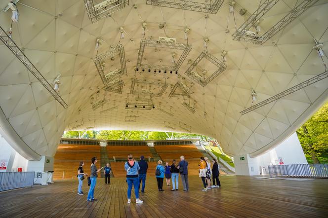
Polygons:
<instances>
[{"instance_id":1,"label":"white base wall of the dome behind the right-hand railing","mask_svg":"<svg viewBox=\"0 0 328 218\"><path fill-rule=\"evenodd\" d=\"M236 175L256 176L268 174L268 165L307 164L296 133L272 150L251 158L248 154L235 155Z\"/></svg>"}]
</instances>

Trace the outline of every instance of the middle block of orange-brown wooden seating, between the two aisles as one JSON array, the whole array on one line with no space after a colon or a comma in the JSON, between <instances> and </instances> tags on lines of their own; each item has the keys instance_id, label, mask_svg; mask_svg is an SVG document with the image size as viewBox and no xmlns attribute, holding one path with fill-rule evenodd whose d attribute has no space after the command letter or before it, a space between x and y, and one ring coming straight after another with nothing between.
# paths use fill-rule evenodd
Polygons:
<instances>
[{"instance_id":1,"label":"middle block of orange-brown wooden seating, between the two aisles","mask_svg":"<svg viewBox=\"0 0 328 218\"><path fill-rule=\"evenodd\" d=\"M126 160L127 154L133 154L134 158L139 159L141 155L153 157L148 146L107 146L107 155L109 158L115 156L116 159Z\"/></svg>"}]
</instances>

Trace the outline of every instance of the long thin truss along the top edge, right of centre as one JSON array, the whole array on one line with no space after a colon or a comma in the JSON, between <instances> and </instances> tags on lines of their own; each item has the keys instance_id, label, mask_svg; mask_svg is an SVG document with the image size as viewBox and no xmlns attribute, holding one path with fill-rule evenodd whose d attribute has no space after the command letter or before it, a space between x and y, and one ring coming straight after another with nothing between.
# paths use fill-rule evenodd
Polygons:
<instances>
[{"instance_id":1,"label":"long thin truss along the top edge, right of centre","mask_svg":"<svg viewBox=\"0 0 328 218\"><path fill-rule=\"evenodd\" d=\"M224 0L202 2L188 0L147 0L146 4L216 14Z\"/></svg>"}]
</instances>

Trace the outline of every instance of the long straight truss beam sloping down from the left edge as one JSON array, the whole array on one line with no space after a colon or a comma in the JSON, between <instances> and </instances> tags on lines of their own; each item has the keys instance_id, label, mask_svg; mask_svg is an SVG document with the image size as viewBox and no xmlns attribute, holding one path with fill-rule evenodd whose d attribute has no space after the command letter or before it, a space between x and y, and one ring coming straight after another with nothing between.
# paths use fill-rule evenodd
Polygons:
<instances>
[{"instance_id":1,"label":"long straight truss beam sloping down from the left edge","mask_svg":"<svg viewBox=\"0 0 328 218\"><path fill-rule=\"evenodd\" d=\"M60 95L53 89L53 87L49 84L49 82L43 77L43 75L39 72L39 70L32 64L32 62L25 56L23 51L18 48L14 40L9 37L6 32L0 26L0 40L3 42L5 46L9 48L9 50L20 60L23 65L40 81L40 83L44 86L46 90L63 106L67 109L68 105L66 102L60 97Z\"/></svg>"}]
</instances>

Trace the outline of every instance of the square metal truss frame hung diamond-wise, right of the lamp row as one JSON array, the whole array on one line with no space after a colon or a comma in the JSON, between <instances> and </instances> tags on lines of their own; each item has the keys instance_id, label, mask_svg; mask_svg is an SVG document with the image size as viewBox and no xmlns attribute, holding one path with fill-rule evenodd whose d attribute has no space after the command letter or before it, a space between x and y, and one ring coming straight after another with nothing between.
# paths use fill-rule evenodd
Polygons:
<instances>
[{"instance_id":1,"label":"square metal truss frame hung diamond-wise, right of the lamp row","mask_svg":"<svg viewBox=\"0 0 328 218\"><path fill-rule=\"evenodd\" d=\"M211 75L209 75L208 77L201 76L200 74L198 74L197 72L194 71L194 69L198 66L198 64L200 63L200 61L205 58L207 61L211 62L212 64L214 64L216 67L218 67L218 69L212 73ZM222 73L223 71L226 70L226 67L224 65L224 63L222 63L221 61L219 61L217 58L215 58L213 55L209 54L207 51L203 51L194 61L194 63L192 63L190 65L190 67L188 68L188 70L186 71L186 75L189 76L191 79L193 79L194 81L196 81L197 83L199 83L202 86L207 85L210 81L212 81L216 76L218 76L220 73Z\"/></svg>"}]
</instances>

